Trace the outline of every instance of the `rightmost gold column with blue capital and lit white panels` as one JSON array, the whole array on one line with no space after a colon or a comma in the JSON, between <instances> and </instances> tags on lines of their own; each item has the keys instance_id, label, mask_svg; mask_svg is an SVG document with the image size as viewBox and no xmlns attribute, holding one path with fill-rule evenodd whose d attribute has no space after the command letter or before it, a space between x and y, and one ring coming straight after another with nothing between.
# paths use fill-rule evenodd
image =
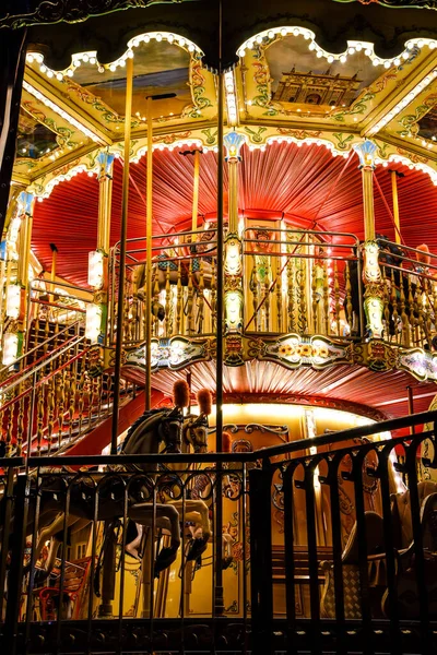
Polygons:
<instances>
[{"instance_id":1,"label":"rightmost gold column with blue capital and lit white panels","mask_svg":"<svg viewBox=\"0 0 437 655\"><path fill-rule=\"evenodd\" d=\"M364 207L364 311L366 313L366 333L373 338L382 338L383 285L378 262L379 248L375 240L374 211L374 169L377 145L366 139L359 145L354 145L359 157L359 168L363 179Z\"/></svg>"}]
</instances>

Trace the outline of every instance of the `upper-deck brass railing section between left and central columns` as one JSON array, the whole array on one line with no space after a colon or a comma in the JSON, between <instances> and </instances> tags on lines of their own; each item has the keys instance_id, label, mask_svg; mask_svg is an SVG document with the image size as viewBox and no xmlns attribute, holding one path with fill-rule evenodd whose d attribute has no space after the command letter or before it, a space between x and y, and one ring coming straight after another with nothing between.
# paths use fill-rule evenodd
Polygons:
<instances>
[{"instance_id":1,"label":"upper-deck brass railing section between left and central columns","mask_svg":"<svg viewBox=\"0 0 437 655\"><path fill-rule=\"evenodd\" d=\"M202 238L208 240L201 240ZM152 335L168 338L212 335L215 331L216 234L180 233L153 238ZM129 241L128 275L125 289L125 345L145 337L145 265L141 241ZM113 251L113 288L110 294L110 332L114 341L118 251Z\"/></svg>"}]
</instances>

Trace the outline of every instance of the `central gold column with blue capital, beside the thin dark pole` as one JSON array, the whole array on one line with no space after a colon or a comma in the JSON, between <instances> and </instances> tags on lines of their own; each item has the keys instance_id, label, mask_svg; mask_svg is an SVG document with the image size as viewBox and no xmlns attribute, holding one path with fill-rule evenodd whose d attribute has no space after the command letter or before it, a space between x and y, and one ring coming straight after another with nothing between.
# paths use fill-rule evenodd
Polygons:
<instances>
[{"instance_id":1,"label":"central gold column with blue capital, beside the thin dark pole","mask_svg":"<svg viewBox=\"0 0 437 655\"><path fill-rule=\"evenodd\" d=\"M241 146L246 142L243 134L228 132L224 139L229 178L229 227L225 238L224 293L225 332L240 333L243 329L243 254L241 238L238 234L238 164L241 160ZM241 348L235 336L226 336L226 360L239 360Z\"/></svg>"}]
</instances>

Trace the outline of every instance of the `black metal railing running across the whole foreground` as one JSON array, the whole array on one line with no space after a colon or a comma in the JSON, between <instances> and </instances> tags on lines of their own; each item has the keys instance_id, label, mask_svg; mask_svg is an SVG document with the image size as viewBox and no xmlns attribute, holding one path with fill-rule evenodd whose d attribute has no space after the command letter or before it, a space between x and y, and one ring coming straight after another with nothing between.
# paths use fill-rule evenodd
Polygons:
<instances>
[{"instance_id":1,"label":"black metal railing running across the whole foreground","mask_svg":"<svg viewBox=\"0 0 437 655\"><path fill-rule=\"evenodd\" d=\"M2 648L436 652L436 416L245 453L29 457L27 475L0 460Z\"/></svg>"}]
</instances>

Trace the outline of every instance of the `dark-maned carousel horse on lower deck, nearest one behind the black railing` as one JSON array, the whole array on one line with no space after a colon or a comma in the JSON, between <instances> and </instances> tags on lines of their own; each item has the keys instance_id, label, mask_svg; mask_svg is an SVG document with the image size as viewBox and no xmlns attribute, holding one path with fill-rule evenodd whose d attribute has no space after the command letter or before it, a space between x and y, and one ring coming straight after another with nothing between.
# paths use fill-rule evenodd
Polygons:
<instances>
[{"instance_id":1,"label":"dark-maned carousel horse on lower deck, nearest one behind the black railing","mask_svg":"<svg viewBox=\"0 0 437 655\"><path fill-rule=\"evenodd\" d=\"M160 451L160 444L165 442L165 452L180 452L181 427L182 427L182 407L188 404L186 383L182 385L177 382L174 388L175 407L173 409L162 408L145 413L141 419L135 421L129 429L127 438L121 449L122 454L152 454ZM132 466L126 466L132 469ZM142 471L150 471L151 465L144 464ZM138 473L138 468L134 468ZM74 533L84 526L94 522L94 489L95 484L92 474L82 474L76 483L70 487L69 513L66 517L60 511L58 496L66 490L64 484L59 476L54 474L42 475L42 486L39 489L39 516L36 521L36 513L32 511L35 507L31 503L31 511L26 524L26 535L32 535L38 528L38 539L35 549L35 558L39 553L47 539L51 539L49 557L46 560L47 575L54 568L56 551L59 543L62 541L63 527ZM139 476L137 489L131 489L129 493L128 517L142 525L151 525L154 514L156 514L155 525L157 528L170 532L170 546L164 548L156 557L155 571L158 573L170 565L175 559L180 546L180 525L177 508L170 503L156 503L155 509L151 502L141 501L143 496L141 487L144 481ZM4 499L1 499L2 502ZM36 498L35 498L36 500ZM108 475L98 491L97 521L109 522L121 519L125 515L123 485L121 476L116 472ZM13 528L13 519L11 521ZM2 526L0 526L0 538ZM206 531L208 535L208 531Z\"/></svg>"}]
</instances>

